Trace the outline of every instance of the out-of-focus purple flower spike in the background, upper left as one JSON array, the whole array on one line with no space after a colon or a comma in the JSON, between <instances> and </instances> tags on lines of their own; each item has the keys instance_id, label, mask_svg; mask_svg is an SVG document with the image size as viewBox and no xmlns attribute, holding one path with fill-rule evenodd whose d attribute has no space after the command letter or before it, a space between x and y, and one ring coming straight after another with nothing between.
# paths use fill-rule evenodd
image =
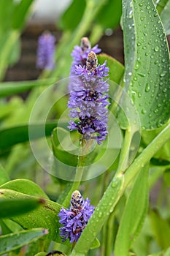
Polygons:
<instances>
[{"instance_id":1,"label":"out-of-focus purple flower spike in the background, upper left","mask_svg":"<svg viewBox=\"0 0 170 256\"><path fill-rule=\"evenodd\" d=\"M53 70L55 67L55 37L45 31L38 40L36 67L39 69Z\"/></svg>"}]
</instances>

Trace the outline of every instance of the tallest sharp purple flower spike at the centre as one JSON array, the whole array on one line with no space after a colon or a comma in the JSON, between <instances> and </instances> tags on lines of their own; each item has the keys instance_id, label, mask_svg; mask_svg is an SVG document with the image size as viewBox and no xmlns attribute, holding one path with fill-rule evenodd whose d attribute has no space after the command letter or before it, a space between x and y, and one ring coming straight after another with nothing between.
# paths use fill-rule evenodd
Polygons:
<instances>
[{"instance_id":1,"label":"tallest sharp purple flower spike at the centre","mask_svg":"<svg viewBox=\"0 0 170 256\"><path fill-rule=\"evenodd\" d=\"M98 65L96 53L90 51L86 67L76 65L69 84L70 99L68 107L70 117L79 121L69 121L69 129L77 129L85 140L95 139L98 144L107 136L107 121L109 105L109 85L104 77L108 75L107 61Z\"/></svg>"}]
</instances>

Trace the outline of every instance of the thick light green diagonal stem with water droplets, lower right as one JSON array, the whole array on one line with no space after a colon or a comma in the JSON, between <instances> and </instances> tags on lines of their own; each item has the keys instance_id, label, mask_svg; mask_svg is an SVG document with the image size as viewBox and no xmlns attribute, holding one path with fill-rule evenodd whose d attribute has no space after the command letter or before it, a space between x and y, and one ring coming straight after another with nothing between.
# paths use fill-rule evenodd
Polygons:
<instances>
[{"instance_id":1,"label":"thick light green diagonal stem with water droplets, lower right","mask_svg":"<svg viewBox=\"0 0 170 256\"><path fill-rule=\"evenodd\" d=\"M107 221L109 214L114 210L118 200L123 195L128 184L135 178L139 170L150 161L151 157L160 149L167 140L170 139L170 124L142 151L142 154L128 167L125 175L119 173L112 179L107 191L101 198L96 210L90 218L88 225L83 230L77 242L72 256L85 255L90 249L90 244L97 236L104 222Z\"/></svg>"}]
</instances>

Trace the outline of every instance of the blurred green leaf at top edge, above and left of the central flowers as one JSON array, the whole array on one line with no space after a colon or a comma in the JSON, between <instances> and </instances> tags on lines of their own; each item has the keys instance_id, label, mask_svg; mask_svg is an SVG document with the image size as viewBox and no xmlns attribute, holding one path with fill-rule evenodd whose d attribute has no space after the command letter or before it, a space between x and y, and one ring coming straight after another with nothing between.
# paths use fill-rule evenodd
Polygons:
<instances>
[{"instance_id":1,"label":"blurred green leaf at top edge, above and left of the central flowers","mask_svg":"<svg viewBox=\"0 0 170 256\"><path fill-rule=\"evenodd\" d=\"M85 5L85 0L73 0L72 4L61 16L61 20L59 21L61 29L74 31L82 19Z\"/></svg>"}]
</instances>

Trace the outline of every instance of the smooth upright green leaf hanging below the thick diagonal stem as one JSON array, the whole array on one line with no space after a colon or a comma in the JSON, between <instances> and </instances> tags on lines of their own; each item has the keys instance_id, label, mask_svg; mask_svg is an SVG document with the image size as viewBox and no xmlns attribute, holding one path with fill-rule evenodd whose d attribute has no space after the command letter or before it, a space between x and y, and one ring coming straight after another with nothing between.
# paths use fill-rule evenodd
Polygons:
<instances>
[{"instance_id":1,"label":"smooth upright green leaf hanging below the thick diagonal stem","mask_svg":"<svg viewBox=\"0 0 170 256\"><path fill-rule=\"evenodd\" d=\"M134 187L125 203L123 216L115 241L115 256L127 256L136 236L142 228L148 206L148 166L140 170Z\"/></svg>"}]
</instances>

